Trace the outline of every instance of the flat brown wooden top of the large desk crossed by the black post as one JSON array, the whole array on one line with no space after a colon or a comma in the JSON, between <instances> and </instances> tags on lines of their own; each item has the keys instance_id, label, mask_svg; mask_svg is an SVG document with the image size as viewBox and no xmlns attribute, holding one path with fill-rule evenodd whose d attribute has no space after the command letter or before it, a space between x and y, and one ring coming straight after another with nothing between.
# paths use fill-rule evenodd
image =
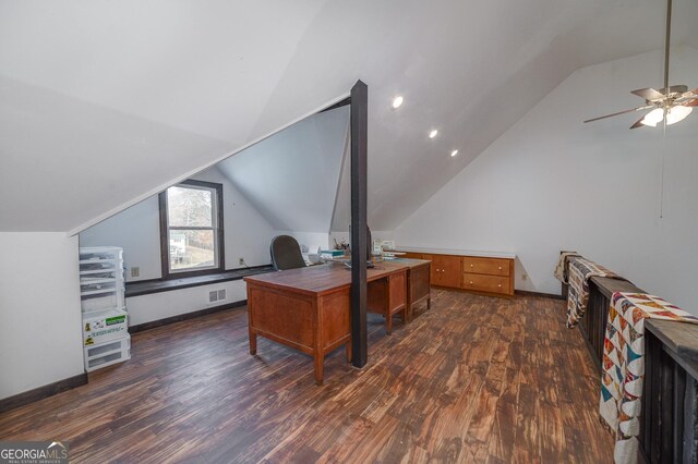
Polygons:
<instances>
[{"instance_id":1,"label":"flat brown wooden top of the large desk crossed by the black post","mask_svg":"<svg viewBox=\"0 0 698 464\"><path fill-rule=\"evenodd\" d=\"M393 273L405 272L409 267L407 262L397 262L397 260L376 262L374 268L366 269L366 280L371 282ZM321 266L245 277L244 281L293 293L321 295L351 286L351 269L340 262L327 262Z\"/></svg>"}]
</instances>

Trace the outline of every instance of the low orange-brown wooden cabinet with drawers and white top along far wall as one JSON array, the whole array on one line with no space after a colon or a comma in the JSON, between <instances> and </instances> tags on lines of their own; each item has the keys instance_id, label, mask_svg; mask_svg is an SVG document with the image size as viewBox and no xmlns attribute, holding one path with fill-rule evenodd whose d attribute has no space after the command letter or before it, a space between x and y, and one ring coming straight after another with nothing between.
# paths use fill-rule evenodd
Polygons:
<instances>
[{"instance_id":1,"label":"low orange-brown wooden cabinet with drawers and white top along far wall","mask_svg":"<svg viewBox=\"0 0 698 464\"><path fill-rule=\"evenodd\" d=\"M431 284L497 296L514 295L512 253L398 247L406 258L432 261Z\"/></svg>"}]
</instances>

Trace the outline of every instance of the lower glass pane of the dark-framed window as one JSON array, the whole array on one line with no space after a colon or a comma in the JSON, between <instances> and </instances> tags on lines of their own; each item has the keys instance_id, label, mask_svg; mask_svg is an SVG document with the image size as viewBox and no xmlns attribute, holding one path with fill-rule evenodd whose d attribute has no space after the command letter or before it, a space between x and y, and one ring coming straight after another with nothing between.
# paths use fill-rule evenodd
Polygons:
<instances>
[{"instance_id":1,"label":"lower glass pane of the dark-framed window","mask_svg":"<svg viewBox=\"0 0 698 464\"><path fill-rule=\"evenodd\" d=\"M214 231L170 231L170 269L216 267Z\"/></svg>"}]
</instances>

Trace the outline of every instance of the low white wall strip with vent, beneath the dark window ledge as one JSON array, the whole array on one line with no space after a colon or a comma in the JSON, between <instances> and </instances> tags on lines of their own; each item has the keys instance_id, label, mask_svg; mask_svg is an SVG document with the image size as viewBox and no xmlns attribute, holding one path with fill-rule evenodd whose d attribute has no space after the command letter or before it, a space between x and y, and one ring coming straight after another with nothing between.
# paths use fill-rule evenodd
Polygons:
<instances>
[{"instance_id":1,"label":"low white wall strip with vent, beneath the dark window ledge","mask_svg":"<svg viewBox=\"0 0 698 464\"><path fill-rule=\"evenodd\" d=\"M226 300L208 302L208 292L226 290ZM171 316L206 309L229 303L246 300L248 291L244 281L215 283L210 285L191 286L171 292L152 293L149 295L127 298L129 326L165 319Z\"/></svg>"}]
</instances>

